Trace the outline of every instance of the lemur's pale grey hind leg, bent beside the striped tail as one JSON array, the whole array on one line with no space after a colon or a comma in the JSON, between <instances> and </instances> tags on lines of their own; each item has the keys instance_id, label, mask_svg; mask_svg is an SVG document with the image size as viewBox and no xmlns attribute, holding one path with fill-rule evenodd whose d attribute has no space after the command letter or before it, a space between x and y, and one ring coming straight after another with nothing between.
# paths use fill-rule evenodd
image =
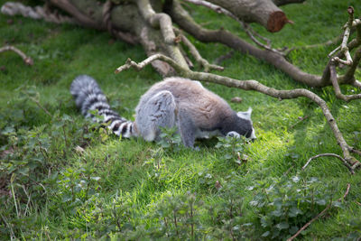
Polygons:
<instances>
[{"instance_id":1,"label":"lemur's pale grey hind leg, bent beside the striped tail","mask_svg":"<svg viewBox=\"0 0 361 241\"><path fill-rule=\"evenodd\" d=\"M146 141L159 138L161 127L173 127L176 120L176 103L168 90L151 97L136 113L135 123Z\"/></svg>"}]
</instances>

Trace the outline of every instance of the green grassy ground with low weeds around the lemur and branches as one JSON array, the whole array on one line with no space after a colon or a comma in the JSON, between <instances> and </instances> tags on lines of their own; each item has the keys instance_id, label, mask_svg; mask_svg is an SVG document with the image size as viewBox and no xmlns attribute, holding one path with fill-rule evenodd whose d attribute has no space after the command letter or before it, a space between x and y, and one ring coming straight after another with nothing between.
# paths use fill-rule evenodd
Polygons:
<instances>
[{"instance_id":1,"label":"green grassy ground with low weeds around the lemur and branches","mask_svg":"<svg viewBox=\"0 0 361 241\"><path fill-rule=\"evenodd\" d=\"M326 42L346 23L349 4L361 14L356 1L308 0L283 7L295 24L282 32L254 27L276 47ZM223 25L245 36L226 17L205 10L192 14L209 28ZM4 15L0 42L34 59L27 67L14 52L0 58L0 146L11 153L0 162L0 239L284 239L329 203L328 214L301 238L352 240L361 235L359 171L350 176L333 158L319 158L301 171L315 154L341 154L321 110L310 100L280 102L204 84L229 103L242 97L241 104L230 103L237 111L253 107L258 139L254 144L210 140L199 142L199 151L171 150L94 131L69 95L72 79L88 74L98 80L111 106L133 119L139 97L161 80L150 67L113 73L128 57L145 58L139 46L113 42L106 32ZM229 51L220 44L193 42L210 61ZM333 48L292 51L289 59L320 74ZM226 70L220 74L235 79L257 79L278 89L305 88L240 53L222 64ZM356 75L361 78L359 70ZM344 103L331 88L311 90L328 102L347 143L361 149L360 100ZM300 116L308 117L300 121ZM77 145L85 152L77 152ZM245 154L241 160L229 156L236 148ZM347 199L335 202L347 183Z\"/></svg>"}]
</instances>

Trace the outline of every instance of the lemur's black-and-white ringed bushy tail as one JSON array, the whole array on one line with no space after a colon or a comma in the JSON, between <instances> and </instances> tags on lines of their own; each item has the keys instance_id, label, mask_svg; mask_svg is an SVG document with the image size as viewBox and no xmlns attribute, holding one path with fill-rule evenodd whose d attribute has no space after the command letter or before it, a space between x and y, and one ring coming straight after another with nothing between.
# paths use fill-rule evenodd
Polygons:
<instances>
[{"instance_id":1,"label":"lemur's black-and-white ringed bushy tail","mask_svg":"<svg viewBox=\"0 0 361 241\"><path fill-rule=\"evenodd\" d=\"M131 137L137 135L134 130L134 123L119 116L112 110L106 101L97 81L87 75L80 75L73 80L70 86L70 93L75 99L77 107L81 110L81 114L91 117L94 121L98 121L90 111L97 110L99 116L103 116L103 123L108 124L108 128L116 135L123 137Z\"/></svg>"}]
</instances>

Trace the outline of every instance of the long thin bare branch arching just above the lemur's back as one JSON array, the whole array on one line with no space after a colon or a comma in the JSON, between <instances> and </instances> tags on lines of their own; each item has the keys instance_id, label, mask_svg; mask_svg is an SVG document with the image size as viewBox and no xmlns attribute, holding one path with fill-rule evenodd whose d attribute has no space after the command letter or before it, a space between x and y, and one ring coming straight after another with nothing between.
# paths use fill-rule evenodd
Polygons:
<instances>
[{"instance_id":1,"label":"long thin bare branch arching just above the lemur's back","mask_svg":"<svg viewBox=\"0 0 361 241\"><path fill-rule=\"evenodd\" d=\"M256 80L238 80L238 79L231 79L224 76L219 76L216 74L205 73L205 72L196 72L189 69L185 69L181 67L177 62L171 60L171 58L164 56L162 54L155 54L146 60L143 60L140 63L136 63L133 60L126 60L125 64L120 66L116 69L116 73L119 73L123 70L128 70L130 68L134 68L135 70L142 70L144 66L150 64L153 60L162 60L167 62L171 65L171 67L178 72L181 77L189 78L189 79L197 79L200 81L212 82L220 85L224 85L227 87L232 88L241 88L245 90L255 90L261 92L265 95L276 97L278 99L290 99L290 98L297 98L297 97L307 97L313 102L315 102L323 112L323 115L326 117L329 127L331 128L333 134L335 135L338 145L341 147L344 159L347 163L351 166L352 170L355 170L356 167L360 165L360 162L356 160L350 154L350 146L346 143L343 135L338 129L338 125L336 124L335 118L332 116L331 112L329 111L329 107L327 106L326 102L320 98L315 93L311 92L305 88L296 88L292 90L278 90L275 88L269 88L264 86L263 84L257 82Z\"/></svg>"}]
</instances>

